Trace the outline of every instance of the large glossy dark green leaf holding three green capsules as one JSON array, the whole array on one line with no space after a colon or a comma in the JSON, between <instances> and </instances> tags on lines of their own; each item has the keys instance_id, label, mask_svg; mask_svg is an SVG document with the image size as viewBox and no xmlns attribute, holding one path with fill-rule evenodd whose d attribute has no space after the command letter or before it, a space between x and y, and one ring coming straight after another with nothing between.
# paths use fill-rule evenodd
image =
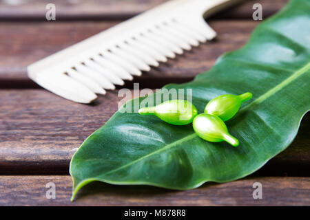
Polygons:
<instances>
[{"instance_id":1,"label":"large glossy dark green leaf holding three green capsules","mask_svg":"<svg viewBox=\"0 0 310 220\"><path fill-rule=\"evenodd\" d=\"M72 199L91 181L177 190L196 188L206 181L232 181L285 150L310 109L309 11L309 0L291 1L260 24L245 47L222 56L209 72L190 83L165 87L192 89L199 113L216 96L254 94L227 121L240 146L206 142L191 124L174 126L153 115L121 113L135 109L134 103L146 98L131 100L90 135L72 158Z\"/></svg>"}]
</instances>

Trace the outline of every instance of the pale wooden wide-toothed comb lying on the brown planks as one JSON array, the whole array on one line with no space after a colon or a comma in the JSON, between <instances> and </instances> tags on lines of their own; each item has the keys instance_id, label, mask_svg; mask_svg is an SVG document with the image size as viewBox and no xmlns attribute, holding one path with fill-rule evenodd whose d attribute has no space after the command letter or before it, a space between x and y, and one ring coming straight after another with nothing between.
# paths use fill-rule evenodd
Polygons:
<instances>
[{"instance_id":1,"label":"pale wooden wide-toothed comb lying on the brown planks","mask_svg":"<svg viewBox=\"0 0 310 220\"><path fill-rule=\"evenodd\" d=\"M206 9L217 5L209 0L169 1L30 65L28 75L63 98L90 103L105 89L124 85L151 66L213 39L216 33L203 20L202 4Z\"/></svg>"}]
</instances>

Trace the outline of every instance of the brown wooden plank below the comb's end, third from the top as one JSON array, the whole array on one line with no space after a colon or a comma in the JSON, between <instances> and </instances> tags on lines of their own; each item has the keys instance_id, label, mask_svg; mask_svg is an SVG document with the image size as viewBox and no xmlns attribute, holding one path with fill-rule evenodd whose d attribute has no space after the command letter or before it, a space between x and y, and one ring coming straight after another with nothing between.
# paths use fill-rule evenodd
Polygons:
<instances>
[{"instance_id":1,"label":"brown wooden plank below the comb's end, third from the top","mask_svg":"<svg viewBox=\"0 0 310 220\"><path fill-rule=\"evenodd\" d=\"M138 95L138 94L137 94ZM131 98L131 97L127 97ZM68 174L83 140L117 111L118 91L78 104L42 89L0 90L0 175ZM309 176L309 114L296 140L256 175Z\"/></svg>"}]
</instances>

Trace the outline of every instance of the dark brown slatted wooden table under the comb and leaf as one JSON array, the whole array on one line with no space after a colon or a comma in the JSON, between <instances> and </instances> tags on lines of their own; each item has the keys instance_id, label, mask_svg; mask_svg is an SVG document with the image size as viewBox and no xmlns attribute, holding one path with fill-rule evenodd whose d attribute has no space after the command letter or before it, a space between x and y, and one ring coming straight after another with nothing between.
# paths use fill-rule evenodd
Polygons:
<instances>
[{"instance_id":1,"label":"dark brown slatted wooden table under the comb and leaf","mask_svg":"<svg viewBox=\"0 0 310 220\"><path fill-rule=\"evenodd\" d=\"M33 83L26 66L77 43L164 0L43 1L21 5L0 1L0 205L1 206L218 206L310 205L309 116L296 140L258 172L227 184L204 184L188 191L149 186L85 186L70 202L68 166L78 148L117 110L118 91L109 91L91 105L55 96ZM56 21L45 21L45 5L56 5ZM65 3L66 2L66 3ZM68 3L70 2L70 3ZM74 3L75 2L75 3ZM209 19L218 38L135 78L141 89L192 80L216 58L245 45L258 25L252 5L261 3L263 17L287 0L248 1ZM126 87L132 88L132 82ZM119 89L119 88L118 88ZM263 199L253 199L254 182ZM45 185L56 184L56 199L46 199Z\"/></svg>"}]
</instances>

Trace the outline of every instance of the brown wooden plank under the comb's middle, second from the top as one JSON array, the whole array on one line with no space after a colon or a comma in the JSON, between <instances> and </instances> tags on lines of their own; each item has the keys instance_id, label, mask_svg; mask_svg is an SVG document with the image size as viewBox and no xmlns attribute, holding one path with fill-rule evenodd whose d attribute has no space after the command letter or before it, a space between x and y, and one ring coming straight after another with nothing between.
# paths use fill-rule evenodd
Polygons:
<instances>
[{"instance_id":1,"label":"brown wooden plank under the comb's middle, second from the top","mask_svg":"<svg viewBox=\"0 0 310 220\"><path fill-rule=\"evenodd\" d=\"M35 84L26 74L27 65L115 24L116 22L0 23L0 88L34 87ZM135 78L134 82L158 88L167 83L192 80L197 74L210 69L221 54L247 43L258 22L211 21L209 24L218 32L215 41L195 47L192 51L153 68L151 72Z\"/></svg>"}]
</instances>

